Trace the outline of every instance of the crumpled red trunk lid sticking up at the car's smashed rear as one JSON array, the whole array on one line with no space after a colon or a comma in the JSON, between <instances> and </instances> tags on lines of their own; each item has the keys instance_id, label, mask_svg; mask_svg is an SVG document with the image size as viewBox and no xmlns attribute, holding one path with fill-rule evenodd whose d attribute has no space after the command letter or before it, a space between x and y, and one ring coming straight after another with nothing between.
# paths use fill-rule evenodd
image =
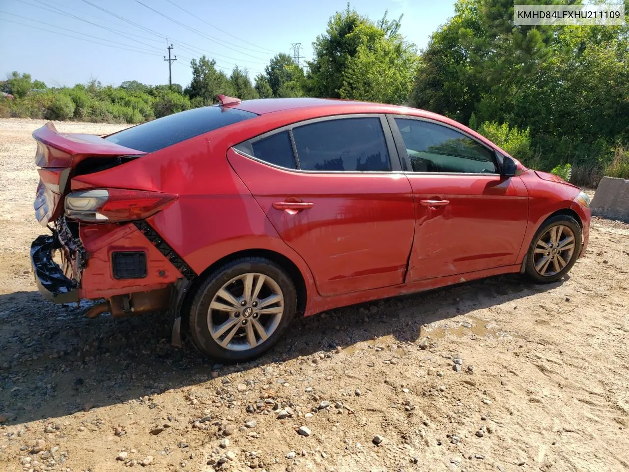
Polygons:
<instances>
[{"instance_id":1,"label":"crumpled red trunk lid sticking up at the car's smashed rear","mask_svg":"<svg viewBox=\"0 0 629 472\"><path fill-rule=\"evenodd\" d=\"M37 142L35 164L40 174L33 207L42 226L62 213L70 177L101 171L147 154L96 135L59 133L53 123L35 130L33 138Z\"/></svg>"}]
</instances>

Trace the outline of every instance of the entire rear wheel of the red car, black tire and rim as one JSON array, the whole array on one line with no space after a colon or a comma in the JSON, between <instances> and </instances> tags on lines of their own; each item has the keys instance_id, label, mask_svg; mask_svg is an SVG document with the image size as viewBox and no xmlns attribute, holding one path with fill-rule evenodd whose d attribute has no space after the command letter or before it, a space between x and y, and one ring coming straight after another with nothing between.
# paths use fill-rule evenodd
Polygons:
<instances>
[{"instance_id":1,"label":"entire rear wheel of the red car, black tire and rim","mask_svg":"<svg viewBox=\"0 0 629 472\"><path fill-rule=\"evenodd\" d=\"M236 259L199 286L190 308L190 335L208 357L248 361L276 344L296 310L295 286L280 266L264 257Z\"/></svg>"}]
</instances>

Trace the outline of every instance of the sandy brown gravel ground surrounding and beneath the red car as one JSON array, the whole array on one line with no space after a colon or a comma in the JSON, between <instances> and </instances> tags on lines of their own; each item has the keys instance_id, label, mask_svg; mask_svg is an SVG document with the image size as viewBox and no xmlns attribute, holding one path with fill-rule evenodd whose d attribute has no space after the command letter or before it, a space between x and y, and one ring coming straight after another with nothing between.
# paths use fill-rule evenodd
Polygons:
<instances>
[{"instance_id":1,"label":"sandy brown gravel ground surrounding and beneath the red car","mask_svg":"<svg viewBox=\"0 0 629 472\"><path fill-rule=\"evenodd\" d=\"M87 320L36 292L42 124L0 120L1 469L629 469L629 225L594 219L562 283L332 310L258 361L213 365L170 347L165 317Z\"/></svg>"}]
</instances>

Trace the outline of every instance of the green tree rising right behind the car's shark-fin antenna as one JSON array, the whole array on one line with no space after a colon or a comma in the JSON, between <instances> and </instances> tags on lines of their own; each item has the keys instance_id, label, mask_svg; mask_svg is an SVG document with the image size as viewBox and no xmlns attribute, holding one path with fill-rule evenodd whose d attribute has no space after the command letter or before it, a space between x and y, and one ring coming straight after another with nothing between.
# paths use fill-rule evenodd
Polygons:
<instances>
[{"instance_id":1,"label":"green tree rising right behind the car's shark-fin antenna","mask_svg":"<svg viewBox=\"0 0 629 472\"><path fill-rule=\"evenodd\" d=\"M225 72L216 70L215 60L204 55L199 60L192 59L192 81L186 87L186 95L191 103L205 106L216 103L218 94L233 95L235 93Z\"/></svg>"}]
</instances>

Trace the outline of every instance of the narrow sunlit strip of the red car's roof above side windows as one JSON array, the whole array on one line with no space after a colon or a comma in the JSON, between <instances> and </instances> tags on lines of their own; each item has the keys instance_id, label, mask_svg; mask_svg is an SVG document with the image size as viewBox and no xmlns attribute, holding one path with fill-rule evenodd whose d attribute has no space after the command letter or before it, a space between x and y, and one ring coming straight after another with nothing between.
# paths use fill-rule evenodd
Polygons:
<instances>
[{"instance_id":1,"label":"narrow sunlit strip of the red car's roof above side windows","mask_svg":"<svg viewBox=\"0 0 629 472\"><path fill-rule=\"evenodd\" d=\"M404 106L333 98L262 98L256 100L245 100L240 104L231 106L231 108L251 111L253 113L257 113L258 115L265 115L267 113L273 113L274 111L331 107L338 107L339 113L349 110L351 110L352 113L360 113L360 110L364 110L364 113L402 113L404 115L408 115L409 110L413 110L415 112L423 111ZM415 115L415 113L413 114Z\"/></svg>"}]
</instances>

